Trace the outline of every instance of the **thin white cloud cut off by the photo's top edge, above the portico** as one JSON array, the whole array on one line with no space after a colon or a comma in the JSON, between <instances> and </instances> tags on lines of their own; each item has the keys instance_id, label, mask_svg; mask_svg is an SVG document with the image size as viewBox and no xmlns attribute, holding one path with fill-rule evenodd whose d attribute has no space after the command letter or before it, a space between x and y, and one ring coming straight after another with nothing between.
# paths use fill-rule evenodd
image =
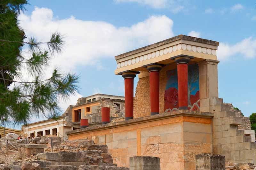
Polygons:
<instances>
[{"instance_id":1,"label":"thin white cloud cut off by the photo's top edge, above the portico","mask_svg":"<svg viewBox=\"0 0 256 170\"><path fill-rule=\"evenodd\" d=\"M173 13L181 11L184 6L179 5L182 0L114 0L116 3L136 2L153 8L169 8Z\"/></svg>"}]
</instances>

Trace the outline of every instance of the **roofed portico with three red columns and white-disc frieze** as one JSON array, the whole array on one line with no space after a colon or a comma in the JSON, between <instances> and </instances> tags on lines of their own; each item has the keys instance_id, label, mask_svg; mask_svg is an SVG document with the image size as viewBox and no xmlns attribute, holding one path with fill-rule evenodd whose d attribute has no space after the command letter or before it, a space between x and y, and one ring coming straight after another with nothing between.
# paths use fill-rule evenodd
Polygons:
<instances>
[{"instance_id":1,"label":"roofed portico with three red columns and white-disc frieze","mask_svg":"<svg viewBox=\"0 0 256 170\"><path fill-rule=\"evenodd\" d=\"M117 69L115 70L116 74L123 75L126 79L127 75L128 78L131 80L136 74L139 74L139 78L149 76L149 91L150 91L150 114L147 113L146 115L154 115L160 112L167 111L166 108L168 106L164 106L164 108L160 103L163 102L164 97L159 94L159 76L160 71L166 72L167 70L177 69L177 85L176 88L177 94L171 93L171 95L177 95L177 103L174 104L176 107L168 108L169 110L176 110L176 109L189 109L189 110L199 110L199 105L202 103L196 103L196 107L193 106L194 103L189 102L191 94L188 94L189 81L188 81L188 65L196 64L196 67L199 67L199 76L197 76L198 85L196 88L200 88L200 100L209 99L210 95L207 94L212 91L208 89L218 89L218 86L214 86L210 83L207 83L210 78L207 74L207 69L209 67L216 67L214 69L214 73L211 70L211 74L214 74L217 80L217 56L216 50L219 43L216 41L206 40L206 39L199 39L195 37L189 37L185 35L179 35L170 39L166 39L164 41L139 48L137 50L133 50L131 52L127 52L115 57L117 62ZM212 65L212 63L214 63ZM206 67L205 67L206 65ZM212 65L212 66L209 66ZM193 72L193 70L192 70ZM197 71L198 72L198 71ZM129 73L129 74L128 74ZM205 74L206 73L206 74ZM133 76L130 76L130 75ZM200 78L200 75L202 78ZM193 76L193 75L192 75ZM207 77L208 76L208 77ZM207 80L206 80L206 79ZM200 81L200 79L205 79ZM133 84L132 81L127 82L125 80L125 94L127 94L127 98L129 94L133 94ZM211 81L211 80L210 80ZM212 80L213 81L213 80ZM201 82L201 83L200 83ZM130 84L129 84L130 83ZM193 83L193 82L192 82ZM129 86L129 85L130 86ZM215 83L216 84L216 83ZM217 80L218 84L218 80ZM217 85L216 84L216 85ZM193 86L193 84L190 84ZM206 85L206 86L205 86ZM196 85L194 85L196 86ZM130 88L129 88L130 87ZM160 87L163 88L163 87ZM192 87L193 89L193 87ZM201 89L207 89L202 90ZM202 93L202 94L201 94ZM214 91L215 97L218 97L218 90ZM166 96L166 95L165 95ZM167 95L168 96L168 95ZM170 98L170 95L168 96ZM174 96L175 97L175 96ZM199 97L199 96L198 96ZM195 98L195 97L194 97ZM126 98L125 98L126 99ZM175 99L174 99L175 100ZM199 100L199 98L198 98ZM129 102L130 100L125 100L126 102L126 110L129 117L133 117L133 112L136 112L137 108L131 108L133 103ZM204 100L203 100L204 101ZM210 103L203 103L203 108L201 111L210 111ZM129 109L128 109L129 108ZM130 111L131 110L131 111ZM135 117L137 117L135 115Z\"/></svg>"}]
</instances>

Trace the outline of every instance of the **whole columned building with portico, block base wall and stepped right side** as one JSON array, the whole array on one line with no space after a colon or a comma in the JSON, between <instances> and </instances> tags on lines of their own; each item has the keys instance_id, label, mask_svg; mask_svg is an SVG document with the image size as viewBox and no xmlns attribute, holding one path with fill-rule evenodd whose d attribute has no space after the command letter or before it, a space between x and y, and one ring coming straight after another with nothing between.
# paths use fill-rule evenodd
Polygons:
<instances>
[{"instance_id":1,"label":"whole columned building with portico, block base wall and stepped right side","mask_svg":"<svg viewBox=\"0 0 256 170\"><path fill-rule=\"evenodd\" d=\"M253 165L248 119L218 95L218 46L179 35L115 56L115 74L124 78L125 120L68 131L68 139L107 145L113 163L130 169L134 156L160 158L161 170Z\"/></svg>"}]
</instances>

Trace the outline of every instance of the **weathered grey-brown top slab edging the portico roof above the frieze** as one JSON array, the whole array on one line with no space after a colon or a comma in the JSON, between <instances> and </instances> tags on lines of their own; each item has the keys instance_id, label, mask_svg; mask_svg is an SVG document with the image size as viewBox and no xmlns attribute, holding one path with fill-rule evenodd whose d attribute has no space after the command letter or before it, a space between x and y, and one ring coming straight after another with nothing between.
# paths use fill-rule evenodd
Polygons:
<instances>
[{"instance_id":1,"label":"weathered grey-brown top slab edging the portico roof above the frieze","mask_svg":"<svg viewBox=\"0 0 256 170\"><path fill-rule=\"evenodd\" d=\"M169 38L169 39L165 39L163 41L160 41L160 42L148 45L148 46L138 48L136 50L129 51L127 53L117 55L117 56L115 56L115 59L118 60L118 59L127 57L129 55L140 53L140 52L143 52L143 51L146 51L146 50L158 47L158 46L162 46L162 45L165 45L165 44L168 44L168 43L180 40L180 39L184 39L184 40L188 40L188 41L194 41L194 42L197 42L197 43L208 44L208 45L212 45L212 46L219 46L219 42L217 42L217 41L212 41L212 40L209 40L209 39L201 39L201 38L196 38L196 37L190 37L190 36L187 36L187 35L178 35L178 36L175 36L175 37L172 37L172 38Z\"/></svg>"}]
</instances>

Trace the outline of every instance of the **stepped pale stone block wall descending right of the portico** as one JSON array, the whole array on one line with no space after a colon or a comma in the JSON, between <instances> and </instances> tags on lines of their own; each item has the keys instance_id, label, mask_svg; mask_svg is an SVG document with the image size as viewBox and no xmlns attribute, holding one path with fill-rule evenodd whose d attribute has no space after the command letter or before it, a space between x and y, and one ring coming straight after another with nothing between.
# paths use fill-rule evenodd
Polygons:
<instances>
[{"instance_id":1,"label":"stepped pale stone block wall descending right of the portico","mask_svg":"<svg viewBox=\"0 0 256 170\"><path fill-rule=\"evenodd\" d=\"M251 136L245 136L238 126L242 117L238 117L233 106L221 103L219 112L214 112L213 118L213 154L226 157L226 165L230 162L256 163L256 143L251 142Z\"/></svg>"}]
</instances>

